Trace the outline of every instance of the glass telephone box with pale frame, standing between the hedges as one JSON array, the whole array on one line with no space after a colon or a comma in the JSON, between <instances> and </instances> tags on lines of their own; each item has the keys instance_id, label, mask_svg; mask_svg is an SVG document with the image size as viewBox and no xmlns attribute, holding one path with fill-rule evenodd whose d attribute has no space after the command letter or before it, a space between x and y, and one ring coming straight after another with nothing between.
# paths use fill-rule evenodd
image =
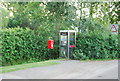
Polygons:
<instances>
[{"instance_id":1,"label":"glass telephone box with pale frame, standing between the hedges","mask_svg":"<svg viewBox=\"0 0 120 81\"><path fill-rule=\"evenodd\" d=\"M76 31L60 30L60 57L73 58L73 51L76 47Z\"/></svg>"}]
</instances>

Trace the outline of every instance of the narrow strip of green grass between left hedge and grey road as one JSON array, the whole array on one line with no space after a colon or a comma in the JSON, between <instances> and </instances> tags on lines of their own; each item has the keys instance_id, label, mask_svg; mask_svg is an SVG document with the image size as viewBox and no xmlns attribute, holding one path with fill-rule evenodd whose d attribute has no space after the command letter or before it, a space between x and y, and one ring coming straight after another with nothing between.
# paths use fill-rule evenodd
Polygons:
<instances>
[{"instance_id":1,"label":"narrow strip of green grass between left hedge and grey road","mask_svg":"<svg viewBox=\"0 0 120 81\"><path fill-rule=\"evenodd\" d=\"M57 60L55 60L55 61L57 61ZM50 65L59 64L58 62L55 62L55 61L49 60L49 61L21 64L21 65L4 66L4 67L0 67L0 73L23 70L23 69L33 68L33 67L43 67L43 66L50 66Z\"/></svg>"}]
</instances>

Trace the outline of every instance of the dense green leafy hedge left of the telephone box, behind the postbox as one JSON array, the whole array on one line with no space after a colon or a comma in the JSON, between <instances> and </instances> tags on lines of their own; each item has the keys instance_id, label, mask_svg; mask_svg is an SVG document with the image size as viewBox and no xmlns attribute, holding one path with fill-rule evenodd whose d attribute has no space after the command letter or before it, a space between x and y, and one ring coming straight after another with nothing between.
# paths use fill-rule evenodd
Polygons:
<instances>
[{"instance_id":1,"label":"dense green leafy hedge left of the telephone box, behind the postbox","mask_svg":"<svg viewBox=\"0 0 120 81\"><path fill-rule=\"evenodd\" d=\"M41 32L28 28L2 29L2 64L15 65L25 62L38 62L58 57L58 48L55 40L55 49L47 49L48 37ZM55 51L55 52L52 52Z\"/></svg>"}]
</instances>

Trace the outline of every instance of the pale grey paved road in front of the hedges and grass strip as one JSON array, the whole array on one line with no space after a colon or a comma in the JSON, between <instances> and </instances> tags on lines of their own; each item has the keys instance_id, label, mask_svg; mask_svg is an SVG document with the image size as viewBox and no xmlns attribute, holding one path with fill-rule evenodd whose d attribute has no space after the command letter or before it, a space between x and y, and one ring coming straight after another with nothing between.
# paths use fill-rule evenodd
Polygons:
<instances>
[{"instance_id":1,"label":"pale grey paved road in front of the hedges and grass strip","mask_svg":"<svg viewBox=\"0 0 120 81\"><path fill-rule=\"evenodd\" d=\"M2 74L3 79L118 79L118 60L57 61L61 64Z\"/></svg>"}]
</instances>

